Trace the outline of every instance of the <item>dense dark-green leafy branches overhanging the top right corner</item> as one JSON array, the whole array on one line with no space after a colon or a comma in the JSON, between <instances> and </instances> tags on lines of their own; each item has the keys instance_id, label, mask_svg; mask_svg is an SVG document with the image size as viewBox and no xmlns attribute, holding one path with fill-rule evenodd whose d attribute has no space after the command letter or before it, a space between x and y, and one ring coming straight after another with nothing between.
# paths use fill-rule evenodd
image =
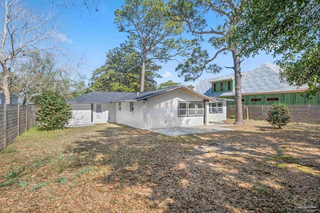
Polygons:
<instances>
[{"instance_id":1,"label":"dense dark-green leafy branches overhanging the top right corner","mask_svg":"<svg viewBox=\"0 0 320 213\"><path fill-rule=\"evenodd\" d=\"M281 78L310 97L320 91L320 0L246 0L233 39L242 55L281 56Z\"/></svg>"}]
</instances>

